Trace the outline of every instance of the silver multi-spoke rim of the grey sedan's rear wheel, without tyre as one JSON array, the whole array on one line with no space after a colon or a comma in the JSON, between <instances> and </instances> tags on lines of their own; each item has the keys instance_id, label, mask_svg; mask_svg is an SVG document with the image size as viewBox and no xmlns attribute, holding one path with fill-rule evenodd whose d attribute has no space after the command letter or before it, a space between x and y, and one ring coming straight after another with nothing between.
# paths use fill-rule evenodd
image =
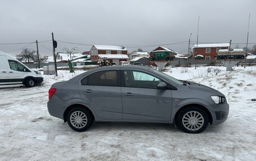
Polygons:
<instances>
[{"instance_id":1,"label":"silver multi-spoke rim of the grey sedan's rear wheel, without tyre","mask_svg":"<svg viewBox=\"0 0 256 161\"><path fill-rule=\"evenodd\" d=\"M87 124L86 114L81 111L75 111L70 116L70 122L76 128L84 128Z\"/></svg>"}]
</instances>

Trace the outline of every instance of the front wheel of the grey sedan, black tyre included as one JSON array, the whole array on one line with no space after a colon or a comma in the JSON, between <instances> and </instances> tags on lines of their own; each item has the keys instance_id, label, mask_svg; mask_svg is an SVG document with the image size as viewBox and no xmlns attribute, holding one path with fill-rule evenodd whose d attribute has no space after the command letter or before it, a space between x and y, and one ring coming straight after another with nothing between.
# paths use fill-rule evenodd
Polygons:
<instances>
[{"instance_id":1,"label":"front wheel of the grey sedan, black tyre included","mask_svg":"<svg viewBox=\"0 0 256 161\"><path fill-rule=\"evenodd\" d=\"M192 134L203 132L209 123L207 113L198 107L189 107L180 112L177 118L179 128Z\"/></svg>"}]
</instances>

